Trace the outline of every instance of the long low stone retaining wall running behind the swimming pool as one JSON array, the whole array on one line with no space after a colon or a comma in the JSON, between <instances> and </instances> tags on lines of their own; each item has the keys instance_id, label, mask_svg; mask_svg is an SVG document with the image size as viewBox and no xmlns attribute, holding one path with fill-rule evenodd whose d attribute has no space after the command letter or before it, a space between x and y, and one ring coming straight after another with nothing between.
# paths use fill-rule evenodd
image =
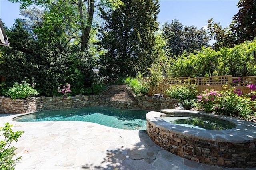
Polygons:
<instances>
[{"instance_id":1,"label":"long low stone retaining wall running behind the swimming pool","mask_svg":"<svg viewBox=\"0 0 256 170\"><path fill-rule=\"evenodd\" d=\"M110 86L110 89L129 89L126 86ZM130 93L130 92L128 92ZM8 97L0 97L0 113L30 113L34 111L52 110L52 109L69 109L90 106L108 106L120 109L143 109L160 111L160 109L174 109L173 99L163 97L136 97L132 96L132 100L127 97L119 99L104 98L104 93L101 95L76 95L69 99L63 97L30 97L26 100L12 100ZM130 94L132 95L132 94ZM130 97L130 96L129 96ZM127 99L126 99L127 98Z\"/></svg>"}]
</instances>

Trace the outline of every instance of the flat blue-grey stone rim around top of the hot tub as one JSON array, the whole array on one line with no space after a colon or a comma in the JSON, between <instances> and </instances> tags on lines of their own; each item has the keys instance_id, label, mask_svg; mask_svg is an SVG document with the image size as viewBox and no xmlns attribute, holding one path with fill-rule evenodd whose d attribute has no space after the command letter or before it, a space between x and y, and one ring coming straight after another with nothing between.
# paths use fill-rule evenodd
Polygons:
<instances>
[{"instance_id":1,"label":"flat blue-grey stone rim around top of the hot tub","mask_svg":"<svg viewBox=\"0 0 256 170\"><path fill-rule=\"evenodd\" d=\"M235 128L228 130L202 130L175 125L161 119L167 114L189 113L191 115L201 115L208 117L217 117L236 124ZM222 115L214 115L212 113L204 113L200 111L180 110L180 109L164 109L160 112L151 111L146 114L147 121L150 121L159 128L175 131L177 134L186 134L189 137L196 137L202 140L209 140L213 142L232 142L232 143L246 143L256 141L256 123L248 122L234 117L227 117Z\"/></svg>"}]
</instances>

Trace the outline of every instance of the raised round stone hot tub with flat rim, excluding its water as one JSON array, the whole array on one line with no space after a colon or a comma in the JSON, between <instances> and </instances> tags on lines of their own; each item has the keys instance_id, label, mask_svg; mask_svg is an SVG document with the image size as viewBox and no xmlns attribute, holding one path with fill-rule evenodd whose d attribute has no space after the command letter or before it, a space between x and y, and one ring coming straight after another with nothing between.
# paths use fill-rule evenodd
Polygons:
<instances>
[{"instance_id":1,"label":"raised round stone hot tub with flat rim, excluding its water","mask_svg":"<svg viewBox=\"0 0 256 170\"><path fill-rule=\"evenodd\" d=\"M200 116L234 125L226 130L205 130L176 125L166 116ZM256 123L187 110L148 112L147 132L159 146L180 157L214 166L256 166Z\"/></svg>"}]
</instances>

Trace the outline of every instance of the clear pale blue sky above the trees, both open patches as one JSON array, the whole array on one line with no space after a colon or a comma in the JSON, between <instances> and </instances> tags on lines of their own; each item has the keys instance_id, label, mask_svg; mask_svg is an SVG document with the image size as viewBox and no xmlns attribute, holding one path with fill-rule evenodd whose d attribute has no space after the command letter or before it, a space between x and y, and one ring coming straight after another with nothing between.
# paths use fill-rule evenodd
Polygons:
<instances>
[{"instance_id":1,"label":"clear pale blue sky above the trees, both open patches","mask_svg":"<svg viewBox=\"0 0 256 170\"><path fill-rule=\"evenodd\" d=\"M223 27L229 26L232 17L238 12L238 0L160 0L158 22L172 22L177 19L186 26L196 26L198 29L207 25L207 20L221 22ZM21 18L19 4L0 0L0 17L8 28L14 19Z\"/></svg>"}]
</instances>

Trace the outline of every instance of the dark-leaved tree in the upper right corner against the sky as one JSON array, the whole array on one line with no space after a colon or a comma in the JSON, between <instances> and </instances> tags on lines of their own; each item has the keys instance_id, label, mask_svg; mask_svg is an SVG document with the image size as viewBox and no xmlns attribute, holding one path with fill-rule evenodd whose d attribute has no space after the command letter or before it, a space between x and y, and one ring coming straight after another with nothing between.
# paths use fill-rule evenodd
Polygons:
<instances>
[{"instance_id":1,"label":"dark-leaved tree in the upper right corner against the sky","mask_svg":"<svg viewBox=\"0 0 256 170\"><path fill-rule=\"evenodd\" d=\"M207 28L216 40L213 46L217 50L220 47L234 47L256 37L256 1L240 0L237 6L239 11L227 28L222 28L220 23L214 23L212 18L208 20Z\"/></svg>"}]
</instances>

